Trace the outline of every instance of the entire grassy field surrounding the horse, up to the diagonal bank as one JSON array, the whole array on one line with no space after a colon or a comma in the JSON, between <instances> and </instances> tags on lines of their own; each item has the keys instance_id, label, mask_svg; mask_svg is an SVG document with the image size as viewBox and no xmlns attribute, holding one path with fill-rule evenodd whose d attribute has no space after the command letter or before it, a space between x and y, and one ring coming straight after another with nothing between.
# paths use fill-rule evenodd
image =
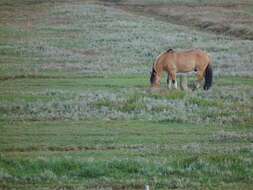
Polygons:
<instances>
[{"instance_id":1,"label":"entire grassy field surrounding the horse, up to the diagonal bank","mask_svg":"<svg viewBox=\"0 0 253 190\"><path fill-rule=\"evenodd\" d=\"M0 2L0 189L252 188L253 42L129 10L154 2L210 6ZM210 91L150 91L171 47L212 56Z\"/></svg>"}]
</instances>

